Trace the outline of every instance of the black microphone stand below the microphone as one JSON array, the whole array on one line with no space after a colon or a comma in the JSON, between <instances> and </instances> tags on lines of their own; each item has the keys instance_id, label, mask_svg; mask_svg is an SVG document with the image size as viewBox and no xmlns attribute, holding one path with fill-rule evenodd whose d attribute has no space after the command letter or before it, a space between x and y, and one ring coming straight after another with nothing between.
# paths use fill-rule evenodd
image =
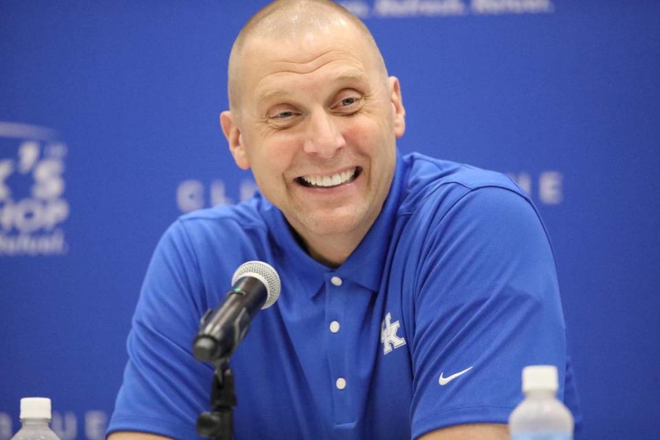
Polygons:
<instances>
[{"instance_id":1,"label":"black microphone stand below the microphone","mask_svg":"<svg viewBox=\"0 0 660 440\"><path fill-rule=\"evenodd\" d=\"M197 433L213 440L232 440L234 437L234 376L229 368L229 356L214 360L215 373L211 385L211 411L197 417Z\"/></svg>"}]
</instances>

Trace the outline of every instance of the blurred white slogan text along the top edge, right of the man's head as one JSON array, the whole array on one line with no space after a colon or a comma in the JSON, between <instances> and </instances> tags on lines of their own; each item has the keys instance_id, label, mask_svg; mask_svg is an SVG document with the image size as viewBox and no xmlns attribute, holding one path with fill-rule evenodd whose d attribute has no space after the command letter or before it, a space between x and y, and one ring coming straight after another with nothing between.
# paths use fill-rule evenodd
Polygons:
<instances>
[{"instance_id":1,"label":"blurred white slogan text along the top edge, right of the man's head","mask_svg":"<svg viewBox=\"0 0 660 440\"><path fill-rule=\"evenodd\" d=\"M339 3L361 19L551 14L555 11L552 0L344 0Z\"/></svg>"}]
</instances>

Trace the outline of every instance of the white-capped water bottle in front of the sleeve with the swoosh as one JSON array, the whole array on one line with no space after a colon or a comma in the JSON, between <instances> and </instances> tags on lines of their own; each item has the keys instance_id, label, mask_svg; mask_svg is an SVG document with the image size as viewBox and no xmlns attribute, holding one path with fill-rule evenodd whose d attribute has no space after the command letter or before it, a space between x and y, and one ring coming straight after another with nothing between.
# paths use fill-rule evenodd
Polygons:
<instances>
[{"instance_id":1,"label":"white-capped water bottle in front of the sleeve with the swoosh","mask_svg":"<svg viewBox=\"0 0 660 440\"><path fill-rule=\"evenodd\" d=\"M557 367L530 365L522 369L520 402L509 417L511 440L572 440L573 416L557 399Z\"/></svg>"}]
</instances>

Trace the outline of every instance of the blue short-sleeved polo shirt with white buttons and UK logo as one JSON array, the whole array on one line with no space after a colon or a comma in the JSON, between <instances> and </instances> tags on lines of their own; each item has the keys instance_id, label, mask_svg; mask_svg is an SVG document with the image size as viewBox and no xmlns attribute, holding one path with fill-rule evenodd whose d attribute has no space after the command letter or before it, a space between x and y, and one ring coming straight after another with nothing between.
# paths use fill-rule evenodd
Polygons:
<instances>
[{"instance_id":1,"label":"blue short-sleeved polo shirt with white buttons and UK logo","mask_svg":"<svg viewBox=\"0 0 660 440\"><path fill-rule=\"evenodd\" d=\"M179 218L148 267L108 432L198 438L213 371L192 340L250 260L270 263L282 291L231 360L237 440L506 423L529 364L559 366L580 419L553 254L527 195L498 173L397 154L380 216L338 268L311 259L259 194Z\"/></svg>"}]
</instances>

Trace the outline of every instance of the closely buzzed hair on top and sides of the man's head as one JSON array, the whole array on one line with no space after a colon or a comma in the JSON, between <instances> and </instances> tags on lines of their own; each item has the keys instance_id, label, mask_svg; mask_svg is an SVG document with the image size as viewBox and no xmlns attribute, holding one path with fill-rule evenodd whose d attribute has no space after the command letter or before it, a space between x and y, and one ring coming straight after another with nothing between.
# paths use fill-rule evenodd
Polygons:
<instances>
[{"instance_id":1,"label":"closely buzzed hair on top and sides of the man's head","mask_svg":"<svg viewBox=\"0 0 660 440\"><path fill-rule=\"evenodd\" d=\"M241 109L243 72L242 59L245 47L252 41L282 41L305 39L308 34L333 32L338 25L349 26L364 37L373 50L384 78L385 63L371 32L364 23L331 0L276 0L266 5L245 23L236 37L229 57L228 96L230 110L238 116Z\"/></svg>"}]
</instances>

